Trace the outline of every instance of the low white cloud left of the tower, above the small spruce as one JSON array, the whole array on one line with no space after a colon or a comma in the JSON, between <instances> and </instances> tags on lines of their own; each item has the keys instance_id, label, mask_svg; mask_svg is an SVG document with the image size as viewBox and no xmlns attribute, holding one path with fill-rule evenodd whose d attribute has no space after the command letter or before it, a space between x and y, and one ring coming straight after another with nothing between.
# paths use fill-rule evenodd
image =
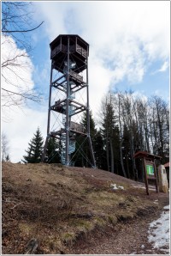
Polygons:
<instances>
[{"instance_id":1,"label":"low white cloud left of the tower, above the small spruce","mask_svg":"<svg viewBox=\"0 0 171 256\"><path fill-rule=\"evenodd\" d=\"M2 130L9 139L9 155L11 162L20 162L26 154L28 143L33 133L40 128L44 138L46 137L47 111L36 111L27 107L13 112L13 120L10 123L3 122Z\"/></svg>"}]
</instances>

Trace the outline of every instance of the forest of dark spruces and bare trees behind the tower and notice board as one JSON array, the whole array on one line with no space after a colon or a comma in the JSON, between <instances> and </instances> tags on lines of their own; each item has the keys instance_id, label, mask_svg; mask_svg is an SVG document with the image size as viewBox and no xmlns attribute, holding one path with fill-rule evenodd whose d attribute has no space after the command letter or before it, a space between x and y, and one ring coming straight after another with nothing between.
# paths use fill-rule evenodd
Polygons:
<instances>
[{"instance_id":1,"label":"forest of dark spruces and bare trees behind the tower and notice board","mask_svg":"<svg viewBox=\"0 0 171 256\"><path fill-rule=\"evenodd\" d=\"M86 127L86 114L83 113L81 125ZM141 150L162 156L162 163L169 159L169 107L159 96L149 98L132 91L116 91L105 95L97 119L90 113L91 141L97 168L122 175L133 180L143 180L142 163L133 155ZM41 136L40 136L41 137ZM37 139L38 140L38 139ZM82 137L78 138L79 144ZM41 137L42 141L42 137ZM36 139L29 143L25 161L29 161L31 149L36 149ZM39 143L39 140L38 140ZM42 143L39 143L42 147ZM91 155L85 143L76 158L74 166L91 167ZM49 163L60 162L60 143L51 138L48 145ZM84 157L84 152L87 157ZM41 153L39 153L41 156ZM33 157L32 153L32 157Z\"/></svg>"}]
</instances>

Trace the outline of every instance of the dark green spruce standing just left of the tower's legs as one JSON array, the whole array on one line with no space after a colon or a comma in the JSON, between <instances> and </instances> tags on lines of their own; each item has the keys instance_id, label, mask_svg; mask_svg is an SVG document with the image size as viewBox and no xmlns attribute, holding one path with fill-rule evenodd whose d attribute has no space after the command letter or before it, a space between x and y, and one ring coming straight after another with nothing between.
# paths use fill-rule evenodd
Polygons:
<instances>
[{"instance_id":1,"label":"dark green spruce standing just left of the tower's legs","mask_svg":"<svg viewBox=\"0 0 171 256\"><path fill-rule=\"evenodd\" d=\"M25 163L41 162L43 144L44 144L44 138L42 137L41 132L38 128L38 130L32 137L30 143L28 143L29 147L27 150L25 150L27 152L27 155L23 155L24 160L22 160L22 162L25 162Z\"/></svg>"}]
</instances>

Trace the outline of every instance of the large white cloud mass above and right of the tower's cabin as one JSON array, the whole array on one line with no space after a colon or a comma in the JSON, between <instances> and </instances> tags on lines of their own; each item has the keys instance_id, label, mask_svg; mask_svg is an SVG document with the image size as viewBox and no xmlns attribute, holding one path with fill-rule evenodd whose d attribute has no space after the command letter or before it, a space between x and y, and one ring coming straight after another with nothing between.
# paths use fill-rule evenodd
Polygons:
<instances>
[{"instance_id":1,"label":"large white cloud mass above and right of the tower's cabin","mask_svg":"<svg viewBox=\"0 0 171 256\"><path fill-rule=\"evenodd\" d=\"M50 40L80 34L90 44L91 108L101 95L127 79L142 82L150 64L169 55L169 3L103 1L36 3Z\"/></svg>"}]
</instances>

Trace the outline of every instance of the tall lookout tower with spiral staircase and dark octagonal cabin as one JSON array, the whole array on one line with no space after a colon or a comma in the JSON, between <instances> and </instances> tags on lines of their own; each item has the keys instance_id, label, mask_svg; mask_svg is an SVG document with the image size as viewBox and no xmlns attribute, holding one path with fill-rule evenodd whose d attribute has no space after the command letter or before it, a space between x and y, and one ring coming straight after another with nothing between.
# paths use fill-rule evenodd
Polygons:
<instances>
[{"instance_id":1,"label":"tall lookout tower with spiral staircase and dark octagonal cabin","mask_svg":"<svg viewBox=\"0 0 171 256\"><path fill-rule=\"evenodd\" d=\"M81 136L88 141L91 167L96 165L90 135L88 56L89 45L77 34L60 34L50 43L50 97L44 161L48 140L56 137L62 164L73 165L72 158L81 148L76 145L77 137ZM86 113L86 127L78 122L83 112ZM87 157L86 152L82 153Z\"/></svg>"}]
</instances>

